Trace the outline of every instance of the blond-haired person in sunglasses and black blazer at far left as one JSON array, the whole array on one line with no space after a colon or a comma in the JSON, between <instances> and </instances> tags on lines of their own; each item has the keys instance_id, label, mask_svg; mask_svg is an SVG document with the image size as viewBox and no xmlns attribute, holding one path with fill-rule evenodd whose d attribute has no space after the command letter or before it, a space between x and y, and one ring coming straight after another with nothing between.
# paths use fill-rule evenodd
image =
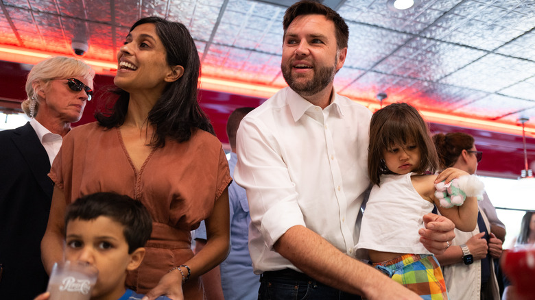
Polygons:
<instances>
[{"instance_id":1,"label":"blond-haired person in sunglasses and black blazer at far left","mask_svg":"<svg viewBox=\"0 0 535 300\"><path fill-rule=\"evenodd\" d=\"M93 96L94 76L74 58L39 62L22 103L29 122L0 132L0 299L34 299L47 288L40 260L53 189L47 173Z\"/></svg>"}]
</instances>

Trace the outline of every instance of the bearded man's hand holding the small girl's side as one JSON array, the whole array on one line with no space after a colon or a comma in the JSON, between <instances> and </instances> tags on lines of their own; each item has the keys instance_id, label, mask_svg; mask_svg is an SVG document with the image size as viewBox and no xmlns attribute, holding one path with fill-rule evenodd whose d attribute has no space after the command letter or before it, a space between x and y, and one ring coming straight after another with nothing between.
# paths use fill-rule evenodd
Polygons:
<instances>
[{"instance_id":1,"label":"bearded man's hand holding the small girl's side","mask_svg":"<svg viewBox=\"0 0 535 300\"><path fill-rule=\"evenodd\" d=\"M444 253L455 238L455 224L445 216L431 213L423 216L423 221L425 228L418 231L420 242L433 254Z\"/></svg>"}]
</instances>

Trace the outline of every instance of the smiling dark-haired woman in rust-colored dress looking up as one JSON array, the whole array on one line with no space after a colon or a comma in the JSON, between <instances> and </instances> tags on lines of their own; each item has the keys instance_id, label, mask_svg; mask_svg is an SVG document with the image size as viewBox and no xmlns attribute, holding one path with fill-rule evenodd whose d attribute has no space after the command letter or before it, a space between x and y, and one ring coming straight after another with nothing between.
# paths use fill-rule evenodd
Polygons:
<instances>
[{"instance_id":1,"label":"smiling dark-haired woman in rust-colored dress looking up","mask_svg":"<svg viewBox=\"0 0 535 300\"><path fill-rule=\"evenodd\" d=\"M195 44L180 23L142 18L117 60L117 102L64 138L49 174L56 186L41 243L45 268L62 259L66 206L93 192L118 192L141 201L153 219L145 259L126 285L150 299L202 299L198 277L228 253L232 179L197 102ZM209 240L193 255L189 232L204 219Z\"/></svg>"}]
</instances>

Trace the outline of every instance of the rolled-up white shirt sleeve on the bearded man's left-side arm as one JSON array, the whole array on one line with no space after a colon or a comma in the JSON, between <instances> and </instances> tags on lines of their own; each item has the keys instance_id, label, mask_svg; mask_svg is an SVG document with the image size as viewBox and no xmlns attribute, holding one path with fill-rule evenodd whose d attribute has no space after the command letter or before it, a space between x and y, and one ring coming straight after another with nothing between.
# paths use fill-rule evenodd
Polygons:
<instances>
[{"instance_id":1,"label":"rolled-up white shirt sleeve on the bearded man's left-side arm","mask_svg":"<svg viewBox=\"0 0 535 300\"><path fill-rule=\"evenodd\" d=\"M247 191L251 222L272 249L290 227L305 226L296 184L290 178L272 129L243 118L237 132L237 184Z\"/></svg>"}]
</instances>

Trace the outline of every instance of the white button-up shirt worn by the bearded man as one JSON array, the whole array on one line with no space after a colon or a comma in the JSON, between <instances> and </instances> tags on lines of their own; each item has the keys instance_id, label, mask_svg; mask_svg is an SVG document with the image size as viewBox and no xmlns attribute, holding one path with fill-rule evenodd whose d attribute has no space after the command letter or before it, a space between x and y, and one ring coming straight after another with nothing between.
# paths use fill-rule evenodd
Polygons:
<instances>
[{"instance_id":1,"label":"white button-up shirt worn by the bearded man","mask_svg":"<svg viewBox=\"0 0 535 300\"><path fill-rule=\"evenodd\" d=\"M303 225L353 256L368 188L372 113L333 92L324 110L283 88L243 118L237 132L237 184L250 207L254 273L296 266L273 250Z\"/></svg>"}]
</instances>

